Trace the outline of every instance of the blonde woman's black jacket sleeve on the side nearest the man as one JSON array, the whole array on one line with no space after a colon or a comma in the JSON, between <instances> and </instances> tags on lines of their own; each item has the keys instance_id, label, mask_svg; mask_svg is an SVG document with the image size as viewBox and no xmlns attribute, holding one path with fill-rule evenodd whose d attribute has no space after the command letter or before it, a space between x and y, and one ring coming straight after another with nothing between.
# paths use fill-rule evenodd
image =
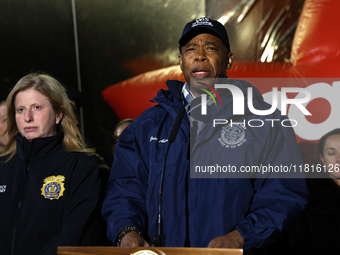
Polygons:
<instances>
[{"instance_id":1,"label":"blonde woman's black jacket sleeve on the side nearest the man","mask_svg":"<svg viewBox=\"0 0 340 255\"><path fill-rule=\"evenodd\" d=\"M98 245L93 240L97 239L94 231L101 217L100 183L99 167L93 158L81 157L71 177L61 231L45 245L41 254L55 255L58 246Z\"/></svg>"}]
</instances>

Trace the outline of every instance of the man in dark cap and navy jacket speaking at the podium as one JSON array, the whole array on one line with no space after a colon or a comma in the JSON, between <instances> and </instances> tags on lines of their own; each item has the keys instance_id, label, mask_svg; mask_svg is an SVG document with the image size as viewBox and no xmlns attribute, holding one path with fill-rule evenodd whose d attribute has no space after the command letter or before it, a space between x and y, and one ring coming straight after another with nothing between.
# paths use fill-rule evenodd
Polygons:
<instances>
[{"instance_id":1,"label":"man in dark cap and navy jacket speaking at the podium","mask_svg":"<svg viewBox=\"0 0 340 255\"><path fill-rule=\"evenodd\" d=\"M158 105L134 120L117 143L102 210L107 235L121 247L151 242L167 247L258 248L275 242L306 205L304 178L271 178L280 177L277 172L248 172L247 178L235 178L225 171L302 165L294 131L275 121L260 128L246 126L252 117L286 117L278 110L254 115L248 107L243 116L233 115L230 93L217 92L206 82L224 78L244 94L251 87L253 105L270 108L251 84L227 77L233 54L218 21L200 18L186 24L179 48L186 82L167 81L169 89L154 98ZM204 93L211 95L206 115L201 114ZM222 118L238 124L214 129L211 120ZM204 162L213 165L203 166ZM220 173L213 175L212 169ZM194 176L195 171L201 175ZM162 240L158 244L157 236Z\"/></svg>"}]
</instances>

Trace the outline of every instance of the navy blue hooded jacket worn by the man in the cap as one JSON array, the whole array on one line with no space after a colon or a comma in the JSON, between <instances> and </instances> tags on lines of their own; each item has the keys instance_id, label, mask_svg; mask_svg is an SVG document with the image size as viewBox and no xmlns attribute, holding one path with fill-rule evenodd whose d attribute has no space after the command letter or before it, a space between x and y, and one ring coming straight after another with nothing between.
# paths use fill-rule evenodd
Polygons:
<instances>
[{"instance_id":1,"label":"navy blue hooded jacket worn by the man in the cap","mask_svg":"<svg viewBox=\"0 0 340 255\"><path fill-rule=\"evenodd\" d=\"M231 82L245 95L247 87L252 86L241 81ZM117 144L102 210L108 222L108 237L112 241L128 226L140 229L146 240L156 233L159 186L167 138L178 109L183 107L183 83L168 81L167 85L169 90L160 90L155 97L158 105L147 109L134 120ZM233 116L230 92L220 95L223 107L213 105L208 108L209 114L201 119L206 126L196 139L192 139L191 146L187 115L175 142L170 146L162 203L165 245L168 247L206 247L213 238L234 229L244 238L245 248L261 247L275 241L306 205L307 191L303 178L272 178L280 177L276 173L237 176L241 178L234 178L233 175L206 178L210 174L203 173L198 176L203 178L190 177L190 168L195 170L195 166L207 164L230 164L237 169L261 164L303 164L292 128L283 128L278 121L274 122L273 127L271 122L261 128L248 126L239 130L239 135L236 132L236 137L228 133L230 130L225 127L213 128L211 116L229 120L234 118L237 122L251 118L284 119L279 111L272 116L254 116L247 106L244 116ZM256 89L253 103L257 109L270 107ZM196 109L200 111L200 108ZM240 137L242 140L238 141ZM226 146L228 143L229 147Z\"/></svg>"}]
</instances>

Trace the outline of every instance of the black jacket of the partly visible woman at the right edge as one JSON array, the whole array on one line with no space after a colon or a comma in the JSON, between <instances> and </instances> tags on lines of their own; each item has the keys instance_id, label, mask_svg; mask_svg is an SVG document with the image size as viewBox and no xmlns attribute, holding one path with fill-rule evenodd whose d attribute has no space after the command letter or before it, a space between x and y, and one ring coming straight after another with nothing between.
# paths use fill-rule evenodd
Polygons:
<instances>
[{"instance_id":1,"label":"black jacket of the partly visible woman at the right edge","mask_svg":"<svg viewBox=\"0 0 340 255\"><path fill-rule=\"evenodd\" d=\"M308 205L290 229L289 254L340 254L340 187L308 180Z\"/></svg>"}]
</instances>

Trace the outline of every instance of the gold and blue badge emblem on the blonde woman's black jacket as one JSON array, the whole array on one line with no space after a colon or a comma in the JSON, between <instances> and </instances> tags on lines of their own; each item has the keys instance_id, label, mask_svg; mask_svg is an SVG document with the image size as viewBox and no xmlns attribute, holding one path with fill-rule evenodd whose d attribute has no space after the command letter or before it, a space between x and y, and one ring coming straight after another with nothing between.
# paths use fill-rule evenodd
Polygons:
<instances>
[{"instance_id":1,"label":"gold and blue badge emblem on the blonde woman's black jacket","mask_svg":"<svg viewBox=\"0 0 340 255\"><path fill-rule=\"evenodd\" d=\"M41 195L48 199L59 199L64 194L65 176L49 176L44 179L43 187L41 188Z\"/></svg>"}]
</instances>

